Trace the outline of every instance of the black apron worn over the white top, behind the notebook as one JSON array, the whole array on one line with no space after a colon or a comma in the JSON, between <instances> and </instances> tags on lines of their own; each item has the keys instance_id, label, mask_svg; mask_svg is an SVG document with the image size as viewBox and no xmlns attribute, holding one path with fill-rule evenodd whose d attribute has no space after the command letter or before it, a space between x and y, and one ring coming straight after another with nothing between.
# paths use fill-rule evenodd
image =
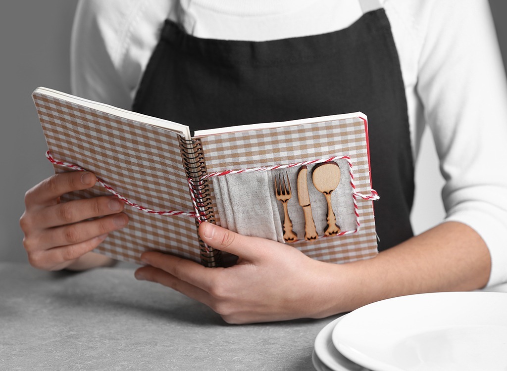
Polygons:
<instances>
[{"instance_id":1,"label":"black apron worn over the white top, behind the notebook","mask_svg":"<svg viewBox=\"0 0 507 371\"><path fill-rule=\"evenodd\" d=\"M407 102L383 9L343 30L266 42L200 39L167 20L133 110L192 131L361 111L379 251L413 236Z\"/></svg>"}]
</instances>

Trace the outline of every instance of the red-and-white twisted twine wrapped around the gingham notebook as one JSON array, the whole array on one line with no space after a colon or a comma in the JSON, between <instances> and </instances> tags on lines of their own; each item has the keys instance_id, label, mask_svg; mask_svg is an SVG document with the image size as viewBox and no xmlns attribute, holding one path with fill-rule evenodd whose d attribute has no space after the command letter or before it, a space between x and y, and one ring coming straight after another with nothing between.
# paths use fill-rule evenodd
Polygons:
<instances>
[{"instance_id":1,"label":"red-and-white twisted twine wrapped around the gingham notebook","mask_svg":"<svg viewBox=\"0 0 507 371\"><path fill-rule=\"evenodd\" d=\"M70 169L74 169L74 170L77 170L77 171L88 171L88 170L82 168L79 165L71 164L71 163L68 163L68 162L65 162L65 161L56 160L55 158L53 158L53 156L51 155L50 151L46 152L46 158L51 163L53 163L55 165L65 166L65 167L68 167ZM334 157L331 157L329 159L311 160L311 161L298 162L298 163L294 163L294 164L275 165L275 166L269 166L269 167L258 167L258 168L241 169L241 170L218 171L218 172L213 172L213 173L208 173L206 175L203 175L198 181L194 181L191 178L189 178L187 180L189 182L190 188L196 189L196 187L194 187L194 185L197 184L197 190L199 192L199 195L198 195L199 197L196 197L193 194L193 192L191 192L192 204L193 204L194 210L195 210L194 212L190 212L190 211L177 211L177 210L167 210L167 211L151 210L151 209L148 209L148 208L143 207L141 205L138 205L138 204L136 204L134 202L131 202L126 197L124 197L121 194L119 194L118 192L116 192L110 185L108 185L101 178L97 177L97 182L100 185L102 185L102 187L104 187L108 192L110 192L113 195L115 195L116 197L118 197L124 203L126 203L127 205L130 205L130 206L132 206L132 207L134 207L134 208L136 208L136 209L138 209L140 211L147 212L149 214L157 214L157 215L170 215L170 216L173 216L173 215L183 215L183 216L189 216L189 217L196 218L199 222L201 222L201 221L203 221L205 219L206 215L205 215L205 212L201 211L202 207L204 205L202 203L200 203L200 201L198 201L198 200L202 199L202 193L201 193L202 192L202 185L203 185L202 182L203 182L203 180L205 180L205 179L207 179L209 177L212 177L212 176L223 176L223 175L228 175L228 174L249 173L249 172L255 172L255 171L270 171L270 170L276 170L276 169L287 169L287 168L298 167L298 166L303 166L303 165L313 165L313 164L326 163L326 162L331 162L331 161L335 161L335 160L346 160L347 163L349 164L350 185L352 187L352 198L354 200L354 213L355 213L355 216L356 216L356 224L357 224L357 228L355 230L353 230L353 231L344 231L344 232L340 232L338 234L339 236L343 236L343 235L346 235L346 234L355 233L359 229L359 212L358 212L358 206L357 206L357 200L356 200L357 197L359 197L361 199L364 199L364 200L371 200L371 201L375 201L375 200L379 199L379 195L373 189L370 190L370 194L369 195L364 195L364 194L356 192L356 190L355 190L355 184L354 184L354 174L352 172L352 161L350 160L350 157L348 157L348 156L334 156Z\"/></svg>"}]
</instances>

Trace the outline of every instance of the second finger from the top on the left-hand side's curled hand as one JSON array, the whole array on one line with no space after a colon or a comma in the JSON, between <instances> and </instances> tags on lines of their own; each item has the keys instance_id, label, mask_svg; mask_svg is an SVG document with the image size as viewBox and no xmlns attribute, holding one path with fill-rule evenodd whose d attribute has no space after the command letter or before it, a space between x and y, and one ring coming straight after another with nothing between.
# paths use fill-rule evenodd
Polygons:
<instances>
[{"instance_id":1,"label":"second finger from the top on the left-hand side's curled hand","mask_svg":"<svg viewBox=\"0 0 507 371\"><path fill-rule=\"evenodd\" d=\"M102 196L59 203L31 215L39 228L64 226L98 216L119 213L125 204L115 196Z\"/></svg>"}]
</instances>

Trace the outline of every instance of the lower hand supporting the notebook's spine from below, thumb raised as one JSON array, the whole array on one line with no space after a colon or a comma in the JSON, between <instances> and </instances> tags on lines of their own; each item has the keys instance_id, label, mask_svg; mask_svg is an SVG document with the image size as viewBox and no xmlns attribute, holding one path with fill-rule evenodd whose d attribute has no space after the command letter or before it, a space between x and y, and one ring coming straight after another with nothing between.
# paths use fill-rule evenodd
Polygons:
<instances>
[{"instance_id":1,"label":"lower hand supporting the notebook's spine from below, thumb raised","mask_svg":"<svg viewBox=\"0 0 507 371\"><path fill-rule=\"evenodd\" d=\"M205 268L187 259L145 252L146 267L135 276L161 283L196 299L226 322L248 323L325 317L331 308L329 289L340 266L315 261L296 248L246 237L208 222L199 234L209 246L239 256L229 268Z\"/></svg>"}]
</instances>

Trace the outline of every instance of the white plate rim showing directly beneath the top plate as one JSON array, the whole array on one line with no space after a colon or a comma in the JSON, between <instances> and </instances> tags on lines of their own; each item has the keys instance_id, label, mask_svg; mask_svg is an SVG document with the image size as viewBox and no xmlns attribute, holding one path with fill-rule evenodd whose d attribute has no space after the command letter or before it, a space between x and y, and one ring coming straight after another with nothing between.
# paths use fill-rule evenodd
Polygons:
<instances>
[{"instance_id":1,"label":"white plate rim showing directly beneath the top plate","mask_svg":"<svg viewBox=\"0 0 507 371\"><path fill-rule=\"evenodd\" d=\"M325 325L315 338L313 365L317 370L331 369L333 371L368 371L363 366L345 358L334 346L332 334L336 324L342 320L339 317ZM315 357L316 356L316 357ZM317 358L317 360L315 359ZM320 361L322 364L318 363Z\"/></svg>"}]
</instances>

